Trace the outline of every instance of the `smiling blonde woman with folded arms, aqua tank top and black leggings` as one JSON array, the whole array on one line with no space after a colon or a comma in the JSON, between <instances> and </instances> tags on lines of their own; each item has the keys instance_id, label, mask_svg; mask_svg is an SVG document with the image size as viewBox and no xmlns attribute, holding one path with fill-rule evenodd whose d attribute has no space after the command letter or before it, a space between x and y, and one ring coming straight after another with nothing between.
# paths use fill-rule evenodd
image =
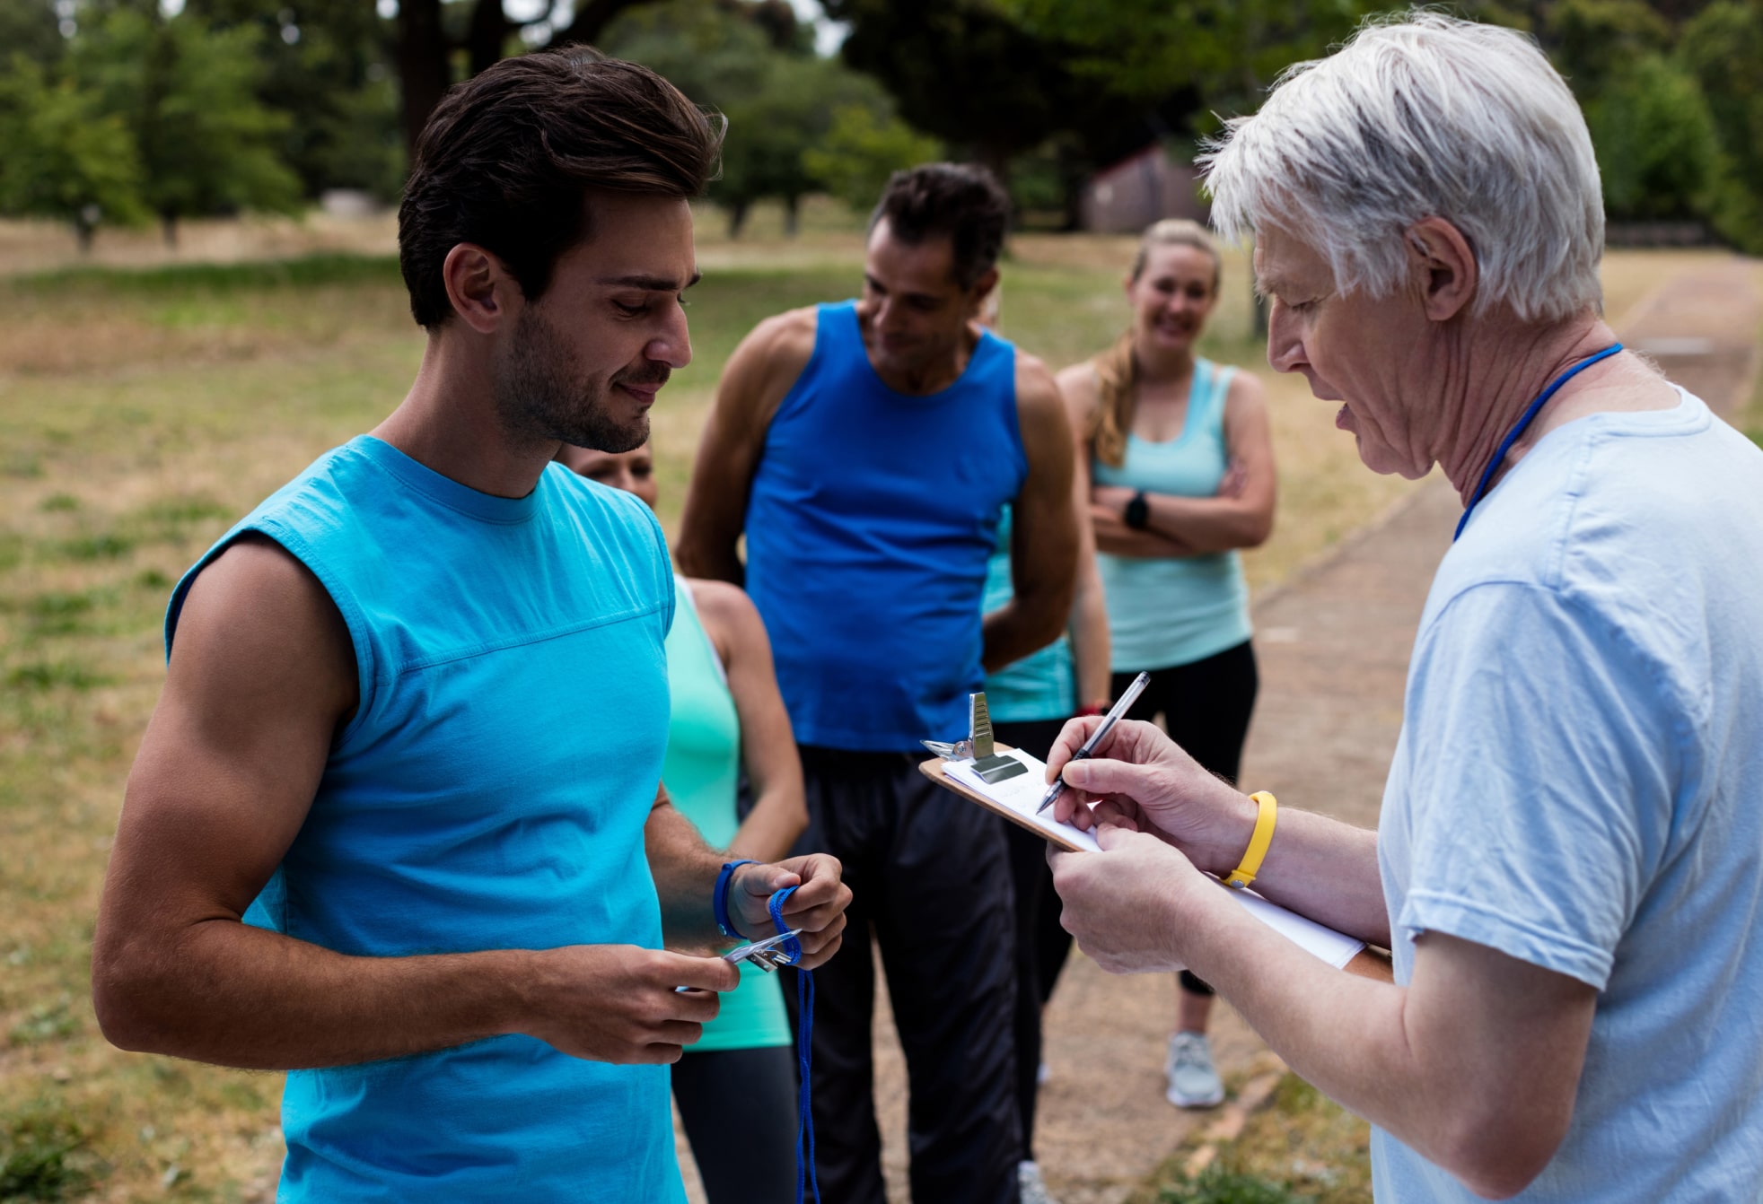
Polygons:
<instances>
[{"instance_id":1,"label":"smiling blonde woman with folded arms, aqua tank top and black leggings","mask_svg":"<svg viewBox=\"0 0 1763 1204\"><path fill-rule=\"evenodd\" d=\"M1151 684L1155 719L1208 770L1236 781L1255 707L1248 587L1238 548L1273 529L1273 444L1261 383L1195 354L1224 261L1197 222L1144 231L1127 277L1132 328L1060 374L1082 432L1090 517L1107 601L1112 689ZM1169 1102L1224 1100L1206 1022L1211 987L1183 971L1165 1072Z\"/></svg>"}]
</instances>

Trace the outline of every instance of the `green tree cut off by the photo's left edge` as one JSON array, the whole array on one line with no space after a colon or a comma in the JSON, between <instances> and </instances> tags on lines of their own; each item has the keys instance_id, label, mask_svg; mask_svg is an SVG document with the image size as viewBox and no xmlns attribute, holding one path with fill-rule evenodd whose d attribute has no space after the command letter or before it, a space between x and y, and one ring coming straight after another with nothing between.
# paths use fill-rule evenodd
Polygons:
<instances>
[{"instance_id":1,"label":"green tree cut off by the photo's left edge","mask_svg":"<svg viewBox=\"0 0 1763 1204\"><path fill-rule=\"evenodd\" d=\"M0 76L0 213L69 222L86 252L99 224L146 219L141 180L134 137L97 92L12 56Z\"/></svg>"}]
</instances>

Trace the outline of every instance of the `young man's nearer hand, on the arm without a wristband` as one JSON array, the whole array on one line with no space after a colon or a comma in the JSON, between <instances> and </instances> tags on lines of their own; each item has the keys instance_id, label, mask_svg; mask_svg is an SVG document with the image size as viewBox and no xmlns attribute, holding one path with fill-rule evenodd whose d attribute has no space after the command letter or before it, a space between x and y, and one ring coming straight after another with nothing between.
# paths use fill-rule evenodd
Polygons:
<instances>
[{"instance_id":1,"label":"young man's nearer hand, on the arm without a wristband","mask_svg":"<svg viewBox=\"0 0 1763 1204\"><path fill-rule=\"evenodd\" d=\"M703 1035L740 968L636 945L568 945L532 954L531 1015L517 1031L585 1061L679 1061ZM679 991L679 987L691 987Z\"/></svg>"}]
</instances>

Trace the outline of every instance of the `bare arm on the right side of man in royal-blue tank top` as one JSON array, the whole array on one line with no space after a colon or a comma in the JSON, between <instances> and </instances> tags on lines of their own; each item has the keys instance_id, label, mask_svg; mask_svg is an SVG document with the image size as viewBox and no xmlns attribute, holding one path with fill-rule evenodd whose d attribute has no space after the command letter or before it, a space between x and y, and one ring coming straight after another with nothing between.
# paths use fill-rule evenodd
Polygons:
<instances>
[{"instance_id":1,"label":"bare arm on the right side of man in royal-blue tank top","mask_svg":"<svg viewBox=\"0 0 1763 1204\"><path fill-rule=\"evenodd\" d=\"M1033 356L1015 358L1015 412L1028 478L1014 504L1010 583L1015 596L986 615L987 672L1060 638L1077 580L1077 517L1072 513L1072 435L1053 375Z\"/></svg>"}]
</instances>

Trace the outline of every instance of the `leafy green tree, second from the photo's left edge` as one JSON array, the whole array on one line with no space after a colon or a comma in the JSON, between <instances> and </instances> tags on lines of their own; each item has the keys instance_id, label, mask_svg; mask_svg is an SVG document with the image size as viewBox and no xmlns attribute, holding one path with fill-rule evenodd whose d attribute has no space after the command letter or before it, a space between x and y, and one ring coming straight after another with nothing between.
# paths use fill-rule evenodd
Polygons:
<instances>
[{"instance_id":1,"label":"leafy green tree, second from the photo's left edge","mask_svg":"<svg viewBox=\"0 0 1763 1204\"><path fill-rule=\"evenodd\" d=\"M167 243L183 217L298 210L300 180L277 157L287 118L254 95L256 42L250 26L118 9L72 48L76 74L134 132L143 199Z\"/></svg>"}]
</instances>

